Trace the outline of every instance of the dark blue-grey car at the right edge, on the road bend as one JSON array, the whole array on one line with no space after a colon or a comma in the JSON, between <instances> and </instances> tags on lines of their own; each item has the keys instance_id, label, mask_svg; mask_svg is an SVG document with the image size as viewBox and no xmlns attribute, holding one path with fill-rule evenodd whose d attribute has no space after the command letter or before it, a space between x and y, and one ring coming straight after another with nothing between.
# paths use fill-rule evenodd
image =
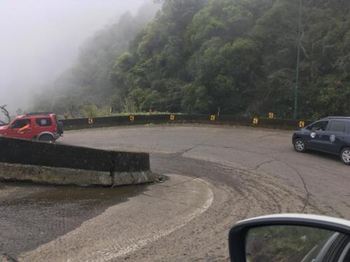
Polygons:
<instances>
[{"instance_id":1,"label":"dark blue-grey car at the right edge, on the road bend","mask_svg":"<svg viewBox=\"0 0 350 262\"><path fill-rule=\"evenodd\" d=\"M317 150L337 154L350 165L350 117L325 117L293 134L297 152Z\"/></svg>"}]
</instances>

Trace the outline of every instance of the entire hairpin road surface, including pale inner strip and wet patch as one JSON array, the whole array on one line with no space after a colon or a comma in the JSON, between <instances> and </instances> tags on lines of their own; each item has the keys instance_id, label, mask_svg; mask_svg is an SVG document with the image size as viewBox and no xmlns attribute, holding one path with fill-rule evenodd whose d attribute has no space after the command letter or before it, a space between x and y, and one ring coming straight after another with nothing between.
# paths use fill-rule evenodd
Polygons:
<instances>
[{"instance_id":1,"label":"entire hairpin road surface, including pale inner strip and wet patch","mask_svg":"<svg viewBox=\"0 0 350 262\"><path fill-rule=\"evenodd\" d=\"M228 261L228 230L240 219L281 212L350 219L349 167L326 154L297 154L291 134L208 125L69 131L60 143L150 152L153 171L176 175L113 193L0 184L0 249L21 261ZM140 224L143 233L134 230ZM104 252L86 254L94 248Z\"/></svg>"}]
</instances>

